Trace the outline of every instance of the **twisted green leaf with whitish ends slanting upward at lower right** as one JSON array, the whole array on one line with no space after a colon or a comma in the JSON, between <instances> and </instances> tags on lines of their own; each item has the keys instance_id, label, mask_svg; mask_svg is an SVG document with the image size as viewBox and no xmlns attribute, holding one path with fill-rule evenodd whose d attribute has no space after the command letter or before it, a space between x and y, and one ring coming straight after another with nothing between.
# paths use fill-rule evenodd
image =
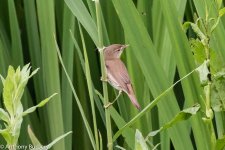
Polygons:
<instances>
[{"instance_id":1,"label":"twisted green leaf with whitish ends slanting upward at lower right","mask_svg":"<svg viewBox=\"0 0 225 150\"><path fill-rule=\"evenodd\" d=\"M182 110L171 121L166 123L160 129L150 132L148 134L148 137L155 136L159 132L162 132L163 130L166 130L166 129L172 127L174 124L176 124L179 121L183 121L183 120L189 119L191 116L195 115L199 111L199 109L200 109L200 105L196 104L193 107L186 108L186 109Z\"/></svg>"}]
</instances>

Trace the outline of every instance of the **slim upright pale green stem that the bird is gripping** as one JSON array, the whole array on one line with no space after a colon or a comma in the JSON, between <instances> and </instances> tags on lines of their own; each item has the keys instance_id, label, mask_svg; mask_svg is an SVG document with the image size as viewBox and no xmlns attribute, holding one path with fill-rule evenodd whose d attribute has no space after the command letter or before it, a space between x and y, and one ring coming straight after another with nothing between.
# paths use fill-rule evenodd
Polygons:
<instances>
[{"instance_id":1,"label":"slim upright pale green stem that the bird is gripping","mask_svg":"<svg viewBox=\"0 0 225 150\"><path fill-rule=\"evenodd\" d=\"M96 6L96 15L97 15L97 28L98 28L98 48L100 52L100 61L101 61L101 71L102 71L102 79L103 81L106 80L106 69L105 69L105 60L103 56L103 37L102 37L102 24L101 24L101 10L99 0L95 0ZM109 102L108 98L108 88L107 83L103 82L103 95L104 95L104 104L107 105ZM106 117L106 130L107 130L107 141L108 141L108 149L113 149L113 142L112 142L112 127L111 127L111 118L110 118L110 108L105 109L105 117Z\"/></svg>"}]
</instances>

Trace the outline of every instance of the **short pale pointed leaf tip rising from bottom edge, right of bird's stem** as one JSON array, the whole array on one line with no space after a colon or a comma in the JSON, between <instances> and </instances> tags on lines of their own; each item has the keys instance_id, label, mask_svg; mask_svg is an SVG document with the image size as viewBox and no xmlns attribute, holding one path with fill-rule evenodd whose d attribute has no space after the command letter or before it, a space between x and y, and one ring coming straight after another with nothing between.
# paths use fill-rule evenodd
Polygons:
<instances>
[{"instance_id":1,"label":"short pale pointed leaf tip rising from bottom edge, right of bird's stem","mask_svg":"<svg viewBox=\"0 0 225 150\"><path fill-rule=\"evenodd\" d=\"M146 141L142 135L142 133L136 129L135 133L135 150L148 150L148 146L146 144Z\"/></svg>"}]
</instances>

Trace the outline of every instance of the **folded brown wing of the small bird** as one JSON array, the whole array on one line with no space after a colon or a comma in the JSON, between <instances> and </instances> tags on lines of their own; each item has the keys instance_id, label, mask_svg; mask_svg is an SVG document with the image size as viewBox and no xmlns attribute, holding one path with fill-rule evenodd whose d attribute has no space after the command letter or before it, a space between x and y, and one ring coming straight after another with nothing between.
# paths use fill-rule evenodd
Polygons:
<instances>
[{"instance_id":1,"label":"folded brown wing of the small bird","mask_svg":"<svg viewBox=\"0 0 225 150\"><path fill-rule=\"evenodd\" d=\"M119 85L126 93L129 93L127 84L130 84L128 71L120 59L106 60L107 74L112 76L113 82Z\"/></svg>"}]
</instances>

